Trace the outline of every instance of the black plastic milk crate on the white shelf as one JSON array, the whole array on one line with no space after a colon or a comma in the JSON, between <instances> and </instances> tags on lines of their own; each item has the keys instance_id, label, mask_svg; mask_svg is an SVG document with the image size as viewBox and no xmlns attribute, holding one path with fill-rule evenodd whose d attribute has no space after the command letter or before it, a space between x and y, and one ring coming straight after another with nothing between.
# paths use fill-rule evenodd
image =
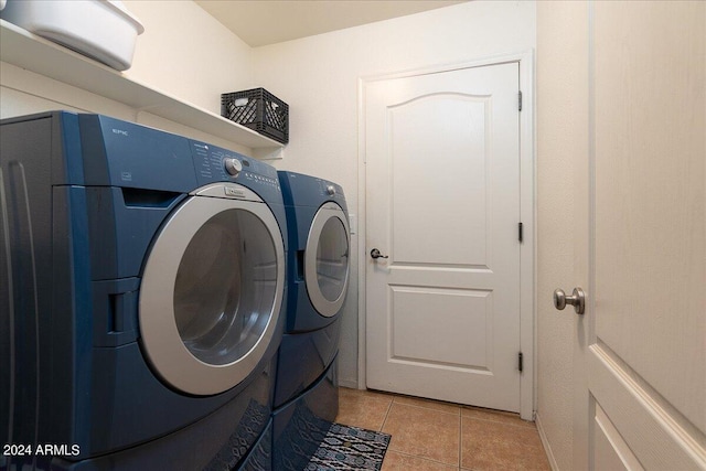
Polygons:
<instances>
[{"instance_id":1,"label":"black plastic milk crate on the white shelf","mask_svg":"<svg viewBox=\"0 0 706 471\"><path fill-rule=\"evenodd\" d=\"M289 142L289 105L265 88L221 95L221 116L278 142Z\"/></svg>"}]
</instances>

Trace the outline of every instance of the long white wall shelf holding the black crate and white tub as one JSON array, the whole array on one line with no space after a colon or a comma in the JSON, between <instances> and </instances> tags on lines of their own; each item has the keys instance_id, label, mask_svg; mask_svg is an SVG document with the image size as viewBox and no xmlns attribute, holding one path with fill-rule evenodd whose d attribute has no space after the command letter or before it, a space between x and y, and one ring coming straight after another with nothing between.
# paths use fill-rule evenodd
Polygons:
<instances>
[{"instance_id":1,"label":"long white wall shelf holding the black crate and white tub","mask_svg":"<svg viewBox=\"0 0 706 471\"><path fill-rule=\"evenodd\" d=\"M143 85L92 58L0 20L0 60L96 95L253 149L255 157L284 146L199 106Z\"/></svg>"}]
</instances>

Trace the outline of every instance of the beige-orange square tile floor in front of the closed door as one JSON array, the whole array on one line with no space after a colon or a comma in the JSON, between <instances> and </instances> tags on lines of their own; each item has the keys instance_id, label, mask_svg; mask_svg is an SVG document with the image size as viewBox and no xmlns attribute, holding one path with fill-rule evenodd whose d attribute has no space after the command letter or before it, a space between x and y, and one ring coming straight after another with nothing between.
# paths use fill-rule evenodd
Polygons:
<instances>
[{"instance_id":1,"label":"beige-orange square tile floor in front of the closed door","mask_svg":"<svg viewBox=\"0 0 706 471\"><path fill-rule=\"evenodd\" d=\"M342 387L336 421L392 435L383 471L550 469L517 414Z\"/></svg>"}]
</instances>

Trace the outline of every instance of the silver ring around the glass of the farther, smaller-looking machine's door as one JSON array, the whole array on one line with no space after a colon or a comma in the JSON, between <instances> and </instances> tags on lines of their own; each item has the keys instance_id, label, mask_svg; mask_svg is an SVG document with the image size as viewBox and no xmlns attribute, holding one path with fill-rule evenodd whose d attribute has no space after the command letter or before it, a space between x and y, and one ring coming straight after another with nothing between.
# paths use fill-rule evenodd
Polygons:
<instances>
[{"instance_id":1,"label":"silver ring around the glass of the farther, smaller-looking machine's door","mask_svg":"<svg viewBox=\"0 0 706 471\"><path fill-rule=\"evenodd\" d=\"M345 213L341 206L335 203L325 203L319 208L319 211L317 211L317 214L313 216L311 222L311 227L309 228L307 247L304 250L304 281L307 283L307 292L309 293L309 299L311 300L313 308L321 315L327 318L335 315L341 310L347 292L349 276L351 272L351 265L349 263L345 270L345 280L343 282L341 295L335 300L329 301L323 296L323 292L321 292L319 281L317 279L317 249L319 247L321 231L325 223L332 217L340 220L341 224L343 224L343 227L345 228L345 239L349 247L350 259L351 231L349 228L347 217L345 217Z\"/></svg>"}]
</instances>

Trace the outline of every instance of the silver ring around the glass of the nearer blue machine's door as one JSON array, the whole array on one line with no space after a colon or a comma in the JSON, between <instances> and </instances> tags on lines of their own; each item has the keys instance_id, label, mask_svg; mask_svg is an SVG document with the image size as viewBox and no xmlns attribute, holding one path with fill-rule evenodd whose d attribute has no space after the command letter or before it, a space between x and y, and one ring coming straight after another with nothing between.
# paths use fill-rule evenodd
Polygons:
<instances>
[{"instance_id":1,"label":"silver ring around the glass of the nearer blue machine's door","mask_svg":"<svg viewBox=\"0 0 706 471\"><path fill-rule=\"evenodd\" d=\"M269 322L248 353L235 362L212 365L184 345L174 315L173 292L181 255L211 217L227 210L253 213L267 227L277 256L277 287ZM247 378L270 345L280 315L285 286L285 249L272 212L264 203L192 196L175 211L148 255L140 288L139 322L142 346L159 376L174 388L194 395L225 392Z\"/></svg>"}]
</instances>

